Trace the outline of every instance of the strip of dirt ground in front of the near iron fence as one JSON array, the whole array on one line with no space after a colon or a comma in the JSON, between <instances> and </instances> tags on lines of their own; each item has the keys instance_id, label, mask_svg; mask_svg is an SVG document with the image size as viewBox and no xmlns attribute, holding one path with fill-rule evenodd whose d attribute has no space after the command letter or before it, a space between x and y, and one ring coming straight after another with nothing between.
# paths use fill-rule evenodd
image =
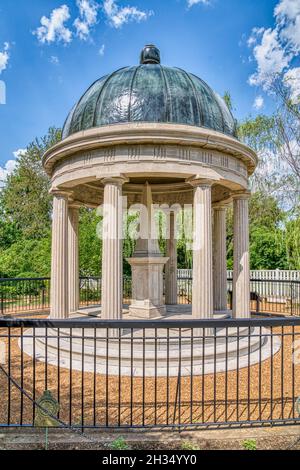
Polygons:
<instances>
[{"instance_id":1,"label":"strip of dirt ground in front of the near iron fence","mask_svg":"<svg viewBox=\"0 0 300 470\"><path fill-rule=\"evenodd\" d=\"M214 451L214 450L300 450L300 427L267 427L254 429L209 430L178 433L99 433L84 436L69 431L49 430L49 450L116 449L116 440L122 439L126 450L146 451ZM0 450L44 450L45 431L4 431L0 434ZM254 448L253 448L254 447ZM123 449L120 449L123 450ZM124 449L125 450L125 449Z\"/></svg>"}]
</instances>

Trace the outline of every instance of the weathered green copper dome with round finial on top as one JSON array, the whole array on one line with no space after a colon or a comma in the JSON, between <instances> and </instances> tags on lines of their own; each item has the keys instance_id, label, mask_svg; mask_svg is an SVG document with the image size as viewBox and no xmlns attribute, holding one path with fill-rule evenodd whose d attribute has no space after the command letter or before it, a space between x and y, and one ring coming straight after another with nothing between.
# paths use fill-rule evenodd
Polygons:
<instances>
[{"instance_id":1,"label":"weathered green copper dome with round finial on top","mask_svg":"<svg viewBox=\"0 0 300 470\"><path fill-rule=\"evenodd\" d=\"M160 64L159 50L146 46L141 64L97 80L70 112L63 138L75 132L130 122L187 124L236 136L224 100L203 80Z\"/></svg>"}]
</instances>

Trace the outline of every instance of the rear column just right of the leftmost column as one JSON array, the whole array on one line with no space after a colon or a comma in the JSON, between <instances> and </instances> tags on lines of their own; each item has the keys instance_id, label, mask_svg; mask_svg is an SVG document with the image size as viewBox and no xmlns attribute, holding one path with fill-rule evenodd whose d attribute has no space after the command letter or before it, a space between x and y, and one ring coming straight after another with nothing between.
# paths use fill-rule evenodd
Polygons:
<instances>
[{"instance_id":1,"label":"rear column just right of the leftmost column","mask_svg":"<svg viewBox=\"0 0 300 470\"><path fill-rule=\"evenodd\" d=\"M69 278L69 311L79 309L79 247L78 220L79 205L72 203L68 211L68 278Z\"/></svg>"}]
</instances>

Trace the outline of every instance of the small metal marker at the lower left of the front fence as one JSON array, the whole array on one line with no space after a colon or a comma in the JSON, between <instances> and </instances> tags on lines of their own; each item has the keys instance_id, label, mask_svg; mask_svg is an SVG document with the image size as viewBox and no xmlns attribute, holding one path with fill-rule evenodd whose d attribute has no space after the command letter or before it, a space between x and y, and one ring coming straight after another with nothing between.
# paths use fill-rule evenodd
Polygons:
<instances>
[{"instance_id":1,"label":"small metal marker at the lower left of the front fence","mask_svg":"<svg viewBox=\"0 0 300 470\"><path fill-rule=\"evenodd\" d=\"M35 427L53 428L60 426L60 423L55 419L59 411L59 403L53 398L49 390L44 392L37 404L39 406L36 407Z\"/></svg>"}]
</instances>

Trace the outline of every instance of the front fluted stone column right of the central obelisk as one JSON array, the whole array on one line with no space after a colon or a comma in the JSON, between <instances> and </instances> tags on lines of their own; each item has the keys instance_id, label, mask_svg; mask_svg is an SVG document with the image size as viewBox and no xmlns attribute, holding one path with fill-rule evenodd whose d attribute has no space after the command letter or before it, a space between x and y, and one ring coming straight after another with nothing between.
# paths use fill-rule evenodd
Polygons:
<instances>
[{"instance_id":1,"label":"front fluted stone column right of the central obelisk","mask_svg":"<svg viewBox=\"0 0 300 470\"><path fill-rule=\"evenodd\" d=\"M213 317L212 207L209 180L193 180L193 318Z\"/></svg>"}]
</instances>

